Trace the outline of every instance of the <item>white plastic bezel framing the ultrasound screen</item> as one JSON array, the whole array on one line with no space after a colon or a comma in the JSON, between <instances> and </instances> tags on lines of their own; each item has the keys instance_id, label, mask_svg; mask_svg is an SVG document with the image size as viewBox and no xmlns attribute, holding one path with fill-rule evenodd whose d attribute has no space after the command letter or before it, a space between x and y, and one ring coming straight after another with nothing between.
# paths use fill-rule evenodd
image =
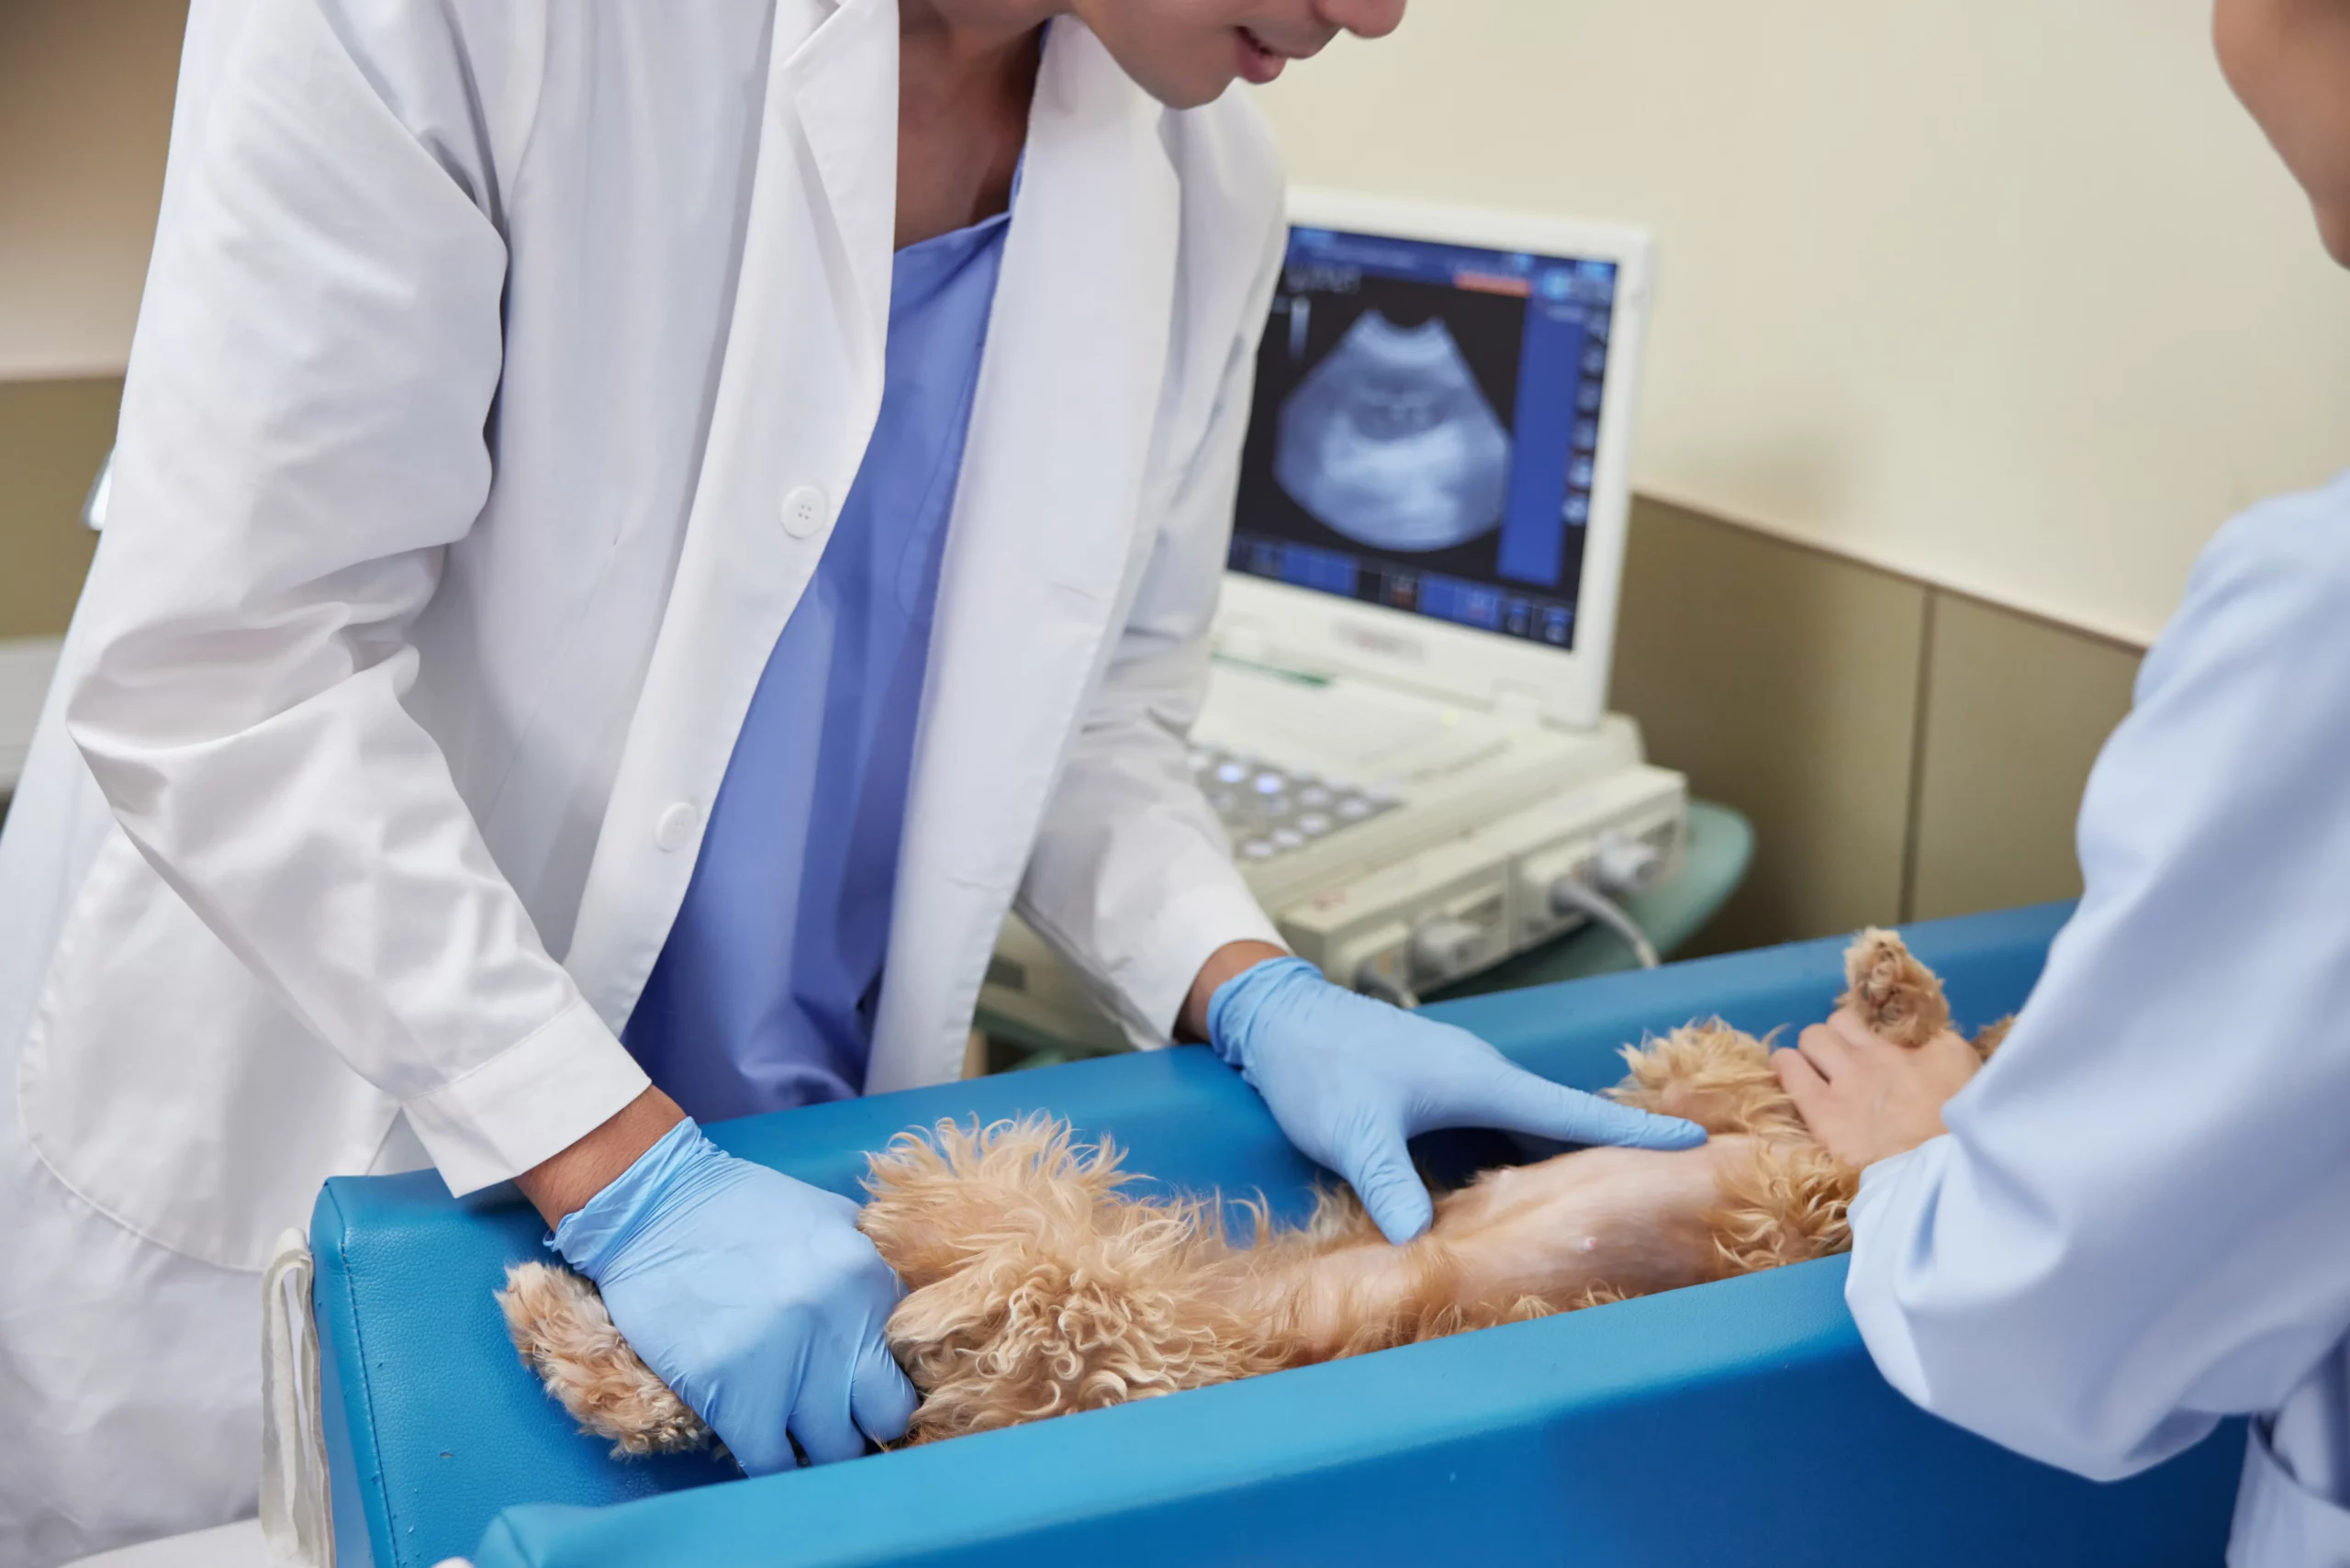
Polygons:
<instances>
[{"instance_id":1,"label":"white plastic bezel framing the ultrasound screen","mask_svg":"<svg viewBox=\"0 0 2350 1568\"><path fill-rule=\"evenodd\" d=\"M1316 188L1290 190L1288 223L1292 230L1328 228L1617 266L1607 327L1607 386L1600 393L1600 444L1591 473L1591 520L1574 599L1577 632L1572 649L1558 649L1227 571L1217 646L1241 658L1276 658L1307 670L1417 686L1478 708L1532 708L1551 722L1577 729L1598 724L1607 710L1624 534L1631 522L1631 437L1654 287L1650 235L1614 223Z\"/></svg>"}]
</instances>

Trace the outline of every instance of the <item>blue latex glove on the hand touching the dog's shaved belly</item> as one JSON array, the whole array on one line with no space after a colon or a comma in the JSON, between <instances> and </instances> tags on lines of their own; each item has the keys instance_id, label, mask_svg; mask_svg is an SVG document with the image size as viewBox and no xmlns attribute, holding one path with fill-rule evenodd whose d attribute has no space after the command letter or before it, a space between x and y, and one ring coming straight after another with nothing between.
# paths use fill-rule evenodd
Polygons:
<instances>
[{"instance_id":1,"label":"blue latex glove on the hand touching the dog's shaved belly","mask_svg":"<svg viewBox=\"0 0 2350 1568\"><path fill-rule=\"evenodd\" d=\"M1405 1138L1490 1126L1633 1150L1706 1140L1694 1121L1565 1088L1469 1030L1330 985L1304 959L1267 959L1215 987L1208 1044L1264 1095L1290 1143L1344 1175L1398 1244L1436 1218Z\"/></svg>"}]
</instances>

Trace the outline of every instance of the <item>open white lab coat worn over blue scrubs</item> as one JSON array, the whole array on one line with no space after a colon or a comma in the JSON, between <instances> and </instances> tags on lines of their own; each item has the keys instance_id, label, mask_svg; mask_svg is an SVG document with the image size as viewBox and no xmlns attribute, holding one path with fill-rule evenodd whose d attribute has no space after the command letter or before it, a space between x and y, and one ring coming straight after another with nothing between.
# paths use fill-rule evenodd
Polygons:
<instances>
[{"instance_id":1,"label":"open white lab coat worn over blue scrubs","mask_svg":"<svg viewBox=\"0 0 2350 1568\"><path fill-rule=\"evenodd\" d=\"M0 1267L0 1448L204 1338L157 1305L26 1373L129 1279L89 1225L251 1291L327 1175L421 1143L468 1192L644 1088L616 1032L881 397L893 0L200 0L195 33L221 75L0 844L0 1208L70 1253ZM1015 891L1142 1039L1274 936L1182 733L1281 235L1243 99L1166 110L1053 26L874 1091L959 1070ZM54 1455L0 1453L0 1556L19 1458Z\"/></svg>"}]
</instances>

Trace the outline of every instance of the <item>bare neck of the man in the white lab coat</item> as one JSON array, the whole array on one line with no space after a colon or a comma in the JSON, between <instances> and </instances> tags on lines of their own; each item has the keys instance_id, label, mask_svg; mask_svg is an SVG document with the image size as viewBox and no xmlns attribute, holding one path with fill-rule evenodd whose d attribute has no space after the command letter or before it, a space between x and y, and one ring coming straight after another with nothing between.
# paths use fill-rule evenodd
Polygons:
<instances>
[{"instance_id":1,"label":"bare neck of the man in the white lab coat","mask_svg":"<svg viewBox=\"0 0 2350 1568\"><path fill-rule=\"evenodd\" d=\"M1039 33L1065 0L900 0L898 249L1010 205Z\"/></svg>"}]
</instances>

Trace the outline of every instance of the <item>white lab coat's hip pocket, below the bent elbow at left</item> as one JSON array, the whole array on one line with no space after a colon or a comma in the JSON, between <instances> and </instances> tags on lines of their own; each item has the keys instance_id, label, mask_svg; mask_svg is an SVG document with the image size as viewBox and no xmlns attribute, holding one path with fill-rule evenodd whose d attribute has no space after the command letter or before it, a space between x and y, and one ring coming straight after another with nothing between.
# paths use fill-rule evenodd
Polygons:
<instances>
[{"instance_id":1,"label":"white lab coat's hip pocket, below the bent elbow at left","mask_svg":"<svg viewBox=\"0 0 2350 1568\"><path fill-rule=\"evenodd\" d=\"M40 1159L127 1229L261 1269L320 1182L364 1171L397 1103L287 1013L115 827L66 919L19 1060Z\"/></svg>"}]
</instances>

